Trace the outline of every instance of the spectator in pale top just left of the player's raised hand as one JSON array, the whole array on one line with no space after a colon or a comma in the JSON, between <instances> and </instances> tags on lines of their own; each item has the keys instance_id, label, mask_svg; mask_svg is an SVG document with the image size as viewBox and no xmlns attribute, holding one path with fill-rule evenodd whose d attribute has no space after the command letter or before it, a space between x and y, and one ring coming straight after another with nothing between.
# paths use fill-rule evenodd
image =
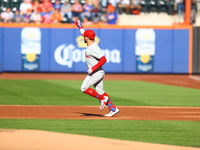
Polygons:
<instances>
[{"instance_id":1,"label":"spectator in pale top just left of the player's raised hand","mask_svg":"<svg viewBox=\"0 0 200 150\"><path fill-rule=\"evenodd\" d=\"M65 3L61 7L61 14L63 17L66 17L68 22L71 22L72 19L72 11L71 11L71 4L69 3L69 0L65 0Z\"/></svg>"}]
</instances>

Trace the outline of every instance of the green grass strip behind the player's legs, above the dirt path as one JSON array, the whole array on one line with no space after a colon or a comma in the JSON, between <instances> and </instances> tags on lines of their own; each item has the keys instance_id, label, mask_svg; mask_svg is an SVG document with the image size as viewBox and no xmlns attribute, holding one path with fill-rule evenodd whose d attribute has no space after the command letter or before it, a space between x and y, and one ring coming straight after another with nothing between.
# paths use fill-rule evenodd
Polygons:
<instances>
[{"instance_id":1,"label":"green grass strip behind the player's legs, above the dirt path","mask_svg":"<svg viewBox=\"0 0 200 150\"><path fill-rule=\"evenodd\" d=\"M82 81L0 80L0 104L99 105L80 91ZM200 106L200 90L141 81L105 81L105 91L120 106Z\"/></svg>"}]
</instances>

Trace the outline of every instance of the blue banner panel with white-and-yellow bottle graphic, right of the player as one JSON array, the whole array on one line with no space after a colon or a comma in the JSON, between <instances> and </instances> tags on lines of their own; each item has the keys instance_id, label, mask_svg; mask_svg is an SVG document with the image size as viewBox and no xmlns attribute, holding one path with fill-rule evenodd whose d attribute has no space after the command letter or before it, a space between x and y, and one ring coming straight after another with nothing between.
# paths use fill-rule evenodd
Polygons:
<instances>
[{"instance_id":1,"label":"blue banner panel with white-and-yellow bottle graphic, right of the player","mask_svg":"<svg viewBox=\"0 0 200 150\"><path fill-rule=\"evenodd\" d=\"M124 72L172 73L173 30L127 29L125 37Z\"/></svg>"}]
</instances>

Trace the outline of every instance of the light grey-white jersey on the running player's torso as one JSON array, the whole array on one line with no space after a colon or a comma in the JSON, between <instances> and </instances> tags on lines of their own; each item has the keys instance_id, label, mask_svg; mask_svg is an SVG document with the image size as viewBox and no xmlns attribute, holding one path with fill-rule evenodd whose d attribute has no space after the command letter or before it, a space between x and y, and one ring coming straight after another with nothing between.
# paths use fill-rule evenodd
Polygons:
<instances>
[{"instance_id":1,"label":"light grey-white jersey on the running player's torso","mask_svg":"<svg viewBox=\"0 0 200 150\"><path fill-rule=\"evenodd\" d=\"M104 56L104 52L100 47L93 43L91 46L88 46L85 51L85 59L88 68L93 67L98 63L98 60ZM102 68L99 68L102 69Z\"/></svg>"}]
</instances>

